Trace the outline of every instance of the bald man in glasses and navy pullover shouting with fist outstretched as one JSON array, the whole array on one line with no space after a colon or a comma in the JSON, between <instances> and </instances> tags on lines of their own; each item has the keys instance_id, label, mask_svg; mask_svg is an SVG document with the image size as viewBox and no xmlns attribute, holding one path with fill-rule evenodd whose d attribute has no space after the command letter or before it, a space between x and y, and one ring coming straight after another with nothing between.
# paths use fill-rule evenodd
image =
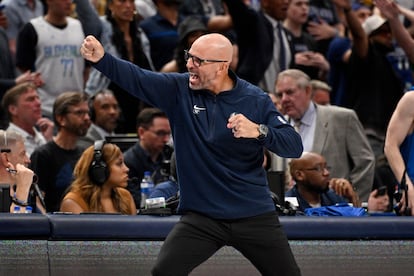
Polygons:
<instances>
[{"instance_id":1,"label":"bald man in glasses and navy pullover shouting with fist outstretched","mask_svg":"<svg viewBox=\"0 0 414 276\"><path fill-rule=\"evenodd\" d=\"M163 110L173 134L182 214L166 238L153 275L188 275L225 245L262 275L300 275L262 167L263 148L287 158L300 136L260 88L229 66L230 41L198 38L183 53L188 73L143 70L104 52L92 36L83 57L129 93Z\"/></svg>"}]
</instances>

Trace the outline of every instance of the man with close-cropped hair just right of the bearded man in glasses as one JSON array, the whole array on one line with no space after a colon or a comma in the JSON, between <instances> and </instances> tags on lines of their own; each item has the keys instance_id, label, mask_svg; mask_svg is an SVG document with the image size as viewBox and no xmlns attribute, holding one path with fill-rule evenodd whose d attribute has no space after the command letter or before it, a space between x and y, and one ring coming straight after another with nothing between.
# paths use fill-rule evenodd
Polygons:
<instances>
[{"instance_id":1,"label":"man with close-cropped hair just right of the bearded man in glasses","mask_svg":"<svg viewBox=\"0 0 414 276\"><path fill-rule=\"evenodd\" d=\"M78 140L78 146L83 149L93 145L96 140L114 135L120 116L118 101L109 89L104 89L90 98L89 111L92 124L86 135Z\"/></svg>"}]
</instances>

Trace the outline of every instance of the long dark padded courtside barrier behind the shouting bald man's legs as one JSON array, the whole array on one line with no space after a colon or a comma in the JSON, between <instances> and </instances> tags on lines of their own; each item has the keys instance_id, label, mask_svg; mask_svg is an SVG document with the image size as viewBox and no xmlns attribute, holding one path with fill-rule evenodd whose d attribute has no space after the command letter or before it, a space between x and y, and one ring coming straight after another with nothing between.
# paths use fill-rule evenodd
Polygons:
<instances>
[{"instance_id":1,"label":"long dark padded courtside barrier behind the shouting bald man's legs","mask_svg":"<svg viewBox=\"0 0 414 276\"><path fill-rule=\"evenodd\" d=\"M0 275L150 275L178 216L0 214ZM280 217L302 275L413 275L411 217ZM276 269L276 268L275 268ZM260 275L224 247L191 275Z\"/></svg>"}]
</instances>

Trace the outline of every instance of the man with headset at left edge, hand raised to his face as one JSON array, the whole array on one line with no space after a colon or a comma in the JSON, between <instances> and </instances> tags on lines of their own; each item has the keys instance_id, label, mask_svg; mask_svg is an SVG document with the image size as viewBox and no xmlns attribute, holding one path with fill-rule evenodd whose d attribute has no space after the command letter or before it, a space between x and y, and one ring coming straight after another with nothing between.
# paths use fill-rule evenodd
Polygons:
<instances>
[{"instance_id":1,"label":"man with headset at left edge, hand raised to his face","mask_svg":"<svg viewBox=\"0 0 414 276\"><path fill-rule=\"evenodd\" d=\"M34 173L27 168L30 159L24 138L17 132L0 130L0 151L0 183L10 185L10 212L15 206L20 206L22 213L27 206L36 211L36 197L30 190Z\"/></svg>"}]
</instances>

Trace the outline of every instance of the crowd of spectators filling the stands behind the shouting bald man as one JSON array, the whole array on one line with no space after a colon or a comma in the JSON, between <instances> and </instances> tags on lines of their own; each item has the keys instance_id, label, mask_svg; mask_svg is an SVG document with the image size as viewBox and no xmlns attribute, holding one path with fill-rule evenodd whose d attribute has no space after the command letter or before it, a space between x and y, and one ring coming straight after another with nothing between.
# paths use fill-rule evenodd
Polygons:
<instances>
[{"instance_id":1,"label":"crowd of spectators filling the stands behind the shouting bald man","mask_svg":"<svg viewBox=\"0 0 414 276\"><path fill-rule=\"evenodd\" d=\"M82 158L90 160L94 141L106 136L139 138L128 151L111 153L125 154L129 179L140 180L146 170L161 177L171 156L164 156L165 146L173 145L168 118L91 67L81 43L93 34L116 57L174 74L187 70L184 51L196 38L220 32L234 45L232 70L269 94L304 150L331 166L331 177L345 179L362 202L385 185L392 202L403 172L388 165L395 155L390 143L384 153L387 128L414 83L414 2L404 3L0 0L0 127L24 138L31 162L22 163L38 176L47 212L59 211L82 152L88 149ZM285 171L291 189L297 181L291 160L267 156L268 170ZM137 183L120 187L139 204L140 188L131 185Z\"/></svg>"}]
</instances>

